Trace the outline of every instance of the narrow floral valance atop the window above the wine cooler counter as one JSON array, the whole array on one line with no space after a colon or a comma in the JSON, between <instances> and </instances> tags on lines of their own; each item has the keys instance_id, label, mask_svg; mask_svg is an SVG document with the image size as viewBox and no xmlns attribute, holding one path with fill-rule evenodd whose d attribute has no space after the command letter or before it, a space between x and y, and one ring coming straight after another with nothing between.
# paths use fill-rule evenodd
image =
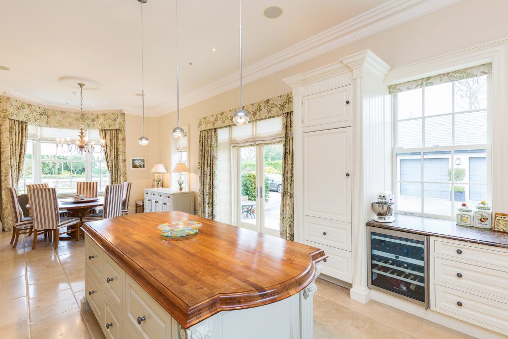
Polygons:
<instances>
[{"instance_id":1,"label":"narrow floral valance atop the window above the wine cooler counter","mask_svg":"<svg viewBox=\"0 0 508 339\"><path fill-rule=\"evenodd\" d=\"M444 74L434 75L423 79L407 81L388 87L390 94L404 92L406 90L417 89L421 87L439 85L442 83L474 78L492 73L492 64L484 64L465 68L458 71L448 72Z\"/></svg>"}]
</instances>

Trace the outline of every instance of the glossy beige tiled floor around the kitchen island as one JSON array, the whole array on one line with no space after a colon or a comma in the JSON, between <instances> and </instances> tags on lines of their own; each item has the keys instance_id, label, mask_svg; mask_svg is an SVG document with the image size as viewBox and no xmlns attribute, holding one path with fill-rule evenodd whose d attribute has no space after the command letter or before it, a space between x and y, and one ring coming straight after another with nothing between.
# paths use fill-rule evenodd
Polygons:
<instances>
[{"instance_id":1,"label":"glossy beige tiled floor around the kitchen island","mask_svg":"<svg viewBox=\"0 0 508 339\"><path fill-rule=\"evenodd\" d=\"M0 338L104 338L91 312L81 314L84 241L60 241L56 251L39 237L9 244L0 232ZM4 311L6 310L6 311ZM345 288L317 280L314 338L467 338L469 336L376 301L363 305Z\"/></svg>"}]
</instances>

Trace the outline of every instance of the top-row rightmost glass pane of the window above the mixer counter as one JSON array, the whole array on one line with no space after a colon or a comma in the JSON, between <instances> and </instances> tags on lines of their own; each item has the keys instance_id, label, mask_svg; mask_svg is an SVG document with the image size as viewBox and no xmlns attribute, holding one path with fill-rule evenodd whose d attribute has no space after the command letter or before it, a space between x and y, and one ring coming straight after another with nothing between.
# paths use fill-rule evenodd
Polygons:
<instances>
[{"instance_id":1,"label":"top-row rightmost glass pane of the window above the mixer counter","mask_svg":"<svg viewBox=\"0 0 508 339\"><path fill-rule=\"evenodd\" d=\"M455 112L487 108L487 76L455 81Z\"/></svg>"}]
</instances>

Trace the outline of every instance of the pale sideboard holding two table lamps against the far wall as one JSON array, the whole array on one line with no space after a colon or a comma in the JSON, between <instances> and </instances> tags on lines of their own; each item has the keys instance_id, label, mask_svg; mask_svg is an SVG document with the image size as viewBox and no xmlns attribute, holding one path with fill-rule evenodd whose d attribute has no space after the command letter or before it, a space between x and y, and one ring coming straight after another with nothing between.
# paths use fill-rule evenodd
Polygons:
<instances>
[{"instance_id":1,"label":"pale sideboard holding two table lamps against the far wall","mask_svg":"<svg viewBox=\"0 0 508 339\"><path fill-rule=\"evenodd\" d=\"M181 211L194 214L194 191L144 189L145 212Z\"/></svg>"}]
</instances>

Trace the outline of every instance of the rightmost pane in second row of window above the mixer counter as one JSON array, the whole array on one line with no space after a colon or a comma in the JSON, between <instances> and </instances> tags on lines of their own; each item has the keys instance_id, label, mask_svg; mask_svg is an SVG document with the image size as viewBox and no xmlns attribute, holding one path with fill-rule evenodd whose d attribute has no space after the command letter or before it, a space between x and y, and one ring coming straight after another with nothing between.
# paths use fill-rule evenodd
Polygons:
<instances>
[{"instance_id":1,"label":"rightmost pane in second row of window above the mixer counter","mask_svg":"<svg viewBox=\"0 0 508 339\"><path fill-rule=\"evenodd\" d=\"M455 144L479 145L487 143L487 112L455 115Z\"/></svg>"}]
</instances>

